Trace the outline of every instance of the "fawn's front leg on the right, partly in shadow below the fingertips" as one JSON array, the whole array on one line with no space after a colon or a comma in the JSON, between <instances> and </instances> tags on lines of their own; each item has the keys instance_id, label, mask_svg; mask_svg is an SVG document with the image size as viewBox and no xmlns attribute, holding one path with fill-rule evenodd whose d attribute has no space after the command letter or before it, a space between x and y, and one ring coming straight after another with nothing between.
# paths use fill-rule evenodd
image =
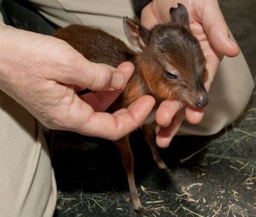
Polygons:
<instances>
[{"instance_id":1,"label":"fawn's front leg on the right, partly in shadow below the fingertips","mask_svg":"<svg viewBox=\"0 0 256 217\"><path fill-rule=\"evenodd\" d=\"M151 149L152 156L154 158L154 161L156 162L156 165L158 166L159 169L168 169L168 167L163 162L161 156L159 155L158 150L156 149L154 132L152 130L151 125L150 124L143 125L142 130L143 130L144 139Z\"/></svg>"}]
</instances>

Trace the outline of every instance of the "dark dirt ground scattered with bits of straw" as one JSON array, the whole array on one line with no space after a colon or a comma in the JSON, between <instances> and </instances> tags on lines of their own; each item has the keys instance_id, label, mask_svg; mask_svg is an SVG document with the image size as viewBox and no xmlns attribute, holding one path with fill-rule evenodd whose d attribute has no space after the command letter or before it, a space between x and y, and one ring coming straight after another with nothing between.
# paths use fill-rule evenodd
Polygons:
<instances>
[{"instance_id":1,"label":"dark dirt ground scattered with bits of straw","mask_svg":"<svg viewBox=\"0 0 256 217\"><path fill-rule=\"evenodd\" d=\"M221 10L256 78L256 1L222 0ZM130 203L113 145L68 132L55 136L55 217L256 216L256 91L235 123L214 136L176 136L157 169L140 131L131 136L135 177L145 210Z\"/></svg>"}]
</instances>

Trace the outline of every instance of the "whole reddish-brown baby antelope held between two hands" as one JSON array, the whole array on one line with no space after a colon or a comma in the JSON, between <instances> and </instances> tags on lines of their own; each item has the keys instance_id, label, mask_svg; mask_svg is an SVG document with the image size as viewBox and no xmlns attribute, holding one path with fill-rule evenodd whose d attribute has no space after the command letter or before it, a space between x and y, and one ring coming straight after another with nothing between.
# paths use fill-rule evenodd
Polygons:
<instances>
[{"instance_id":1,"label":"whole reddish-brown baby antelope held between two hands","mask_svg":"<svg viewBox=\"0 0 256 217\"><path fill-rule=\"evenodd\" d=\"M109 112L128 107L144 94L155 97L156 107L165 99L177 99L194 107L204 107L208 97L203 87L203 81L207 77L203 52L199 42L190 32L188 12L185 7L179 4L177 9L170 10L170 15L173 23L156 25L150 32L138 23L124 19L127 38L138 46L141 51L138 54L110 34L81 25L70 25L58 30L54 36L68 42L86 59L95 63L107 63L113 67L124 61L134 63L133 76L125 91L109 107ZM136 39L140 40L134 41ZM172 70L179 72L176 79L166 78L166 74L163 73L170 65ZM152 149L154 161L159 168L167 169L156 150L151 127L144 126L143 132L145 141ZM142 209L134 181L129 135L114 143L122 156L122 164L127 172L131 203L134 209Z\"/></svg>"}]
</instances>

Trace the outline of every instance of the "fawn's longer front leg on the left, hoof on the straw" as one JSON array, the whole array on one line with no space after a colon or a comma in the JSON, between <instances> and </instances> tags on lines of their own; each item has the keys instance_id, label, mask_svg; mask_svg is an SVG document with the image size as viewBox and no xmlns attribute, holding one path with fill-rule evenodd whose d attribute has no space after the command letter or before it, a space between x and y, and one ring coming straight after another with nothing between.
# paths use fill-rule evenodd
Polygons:
<instances>
[{"instance_id":1,"label":"fawn's longer front leg on the left, hoof on the straw","mask_svg":"<svg viewBox=\"0 0 256 217\"><path fill-rule=\"evenodd\" d=\"M134 155L131 152L129 135L122 137L120 140L114 141L113 143L121 154L122 165L125 167L127 173L131 205L135 210L141 210L143 209L143 206L138 198L138 190L134 180Z\"/></svg>"}]
</instances>

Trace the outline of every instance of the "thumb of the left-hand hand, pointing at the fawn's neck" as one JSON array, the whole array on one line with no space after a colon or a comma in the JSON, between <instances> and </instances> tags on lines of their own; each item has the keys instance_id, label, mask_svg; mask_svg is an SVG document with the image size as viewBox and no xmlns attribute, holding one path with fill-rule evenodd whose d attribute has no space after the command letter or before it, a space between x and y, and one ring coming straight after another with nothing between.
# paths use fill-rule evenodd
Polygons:
<instances>
[{"instance_id":1,"label":"thumb of the left-hand hand, pointing at the fawn's neck","mask_svg":"<svg viewBox=\"0 0 256 217\"><path fill-rule=\"evenodd\" d=\"M76 52L76 51L75 51ZM64 72L51 74L51 78L68 85L77 85L90 90L120 90L125 85L125 72L134 70L134 66L126 63L126 68L122 73L117 68L103 63L94 63L85 59L82 54L76 52L75 61L68 61L64 65ZM61 68L63 69L63 67ZM131 75L131 73L128 73Z\"/></svg>"}]
</instances>

